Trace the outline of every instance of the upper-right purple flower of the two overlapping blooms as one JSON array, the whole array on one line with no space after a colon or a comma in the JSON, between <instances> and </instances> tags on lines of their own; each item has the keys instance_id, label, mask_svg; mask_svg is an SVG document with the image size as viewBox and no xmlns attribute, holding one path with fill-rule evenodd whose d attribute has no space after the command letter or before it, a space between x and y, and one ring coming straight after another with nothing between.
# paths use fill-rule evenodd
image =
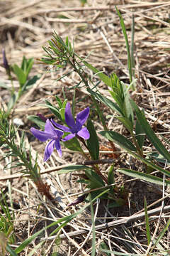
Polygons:
<instances>
[{"instance_id":1,"label":"upper-right purple flower of the two overlapping blooms","mask_svg":"<svg viewBox=\"0 0 170 256\"><path fill-rule=\"evenodd\" d=\"M86 127L82 128L84 123L86 122L86 119L89 117L90 109L87 107L85 110L79 112L77 114L76 122L74 121L74 117L72 116L72 110L70 107L69 102L67 103L65 107L65 122L68 125L68 127L65 127L64 125L57 124L55 121L51 119L52 124L55 125L55 127L61 129L64 132L70 132L71 134L64 137L63 141L67 141L69 139L72 139L76 135L83 139L89 139L90 134L88 129Z\"/></svg>"}]
</instances>

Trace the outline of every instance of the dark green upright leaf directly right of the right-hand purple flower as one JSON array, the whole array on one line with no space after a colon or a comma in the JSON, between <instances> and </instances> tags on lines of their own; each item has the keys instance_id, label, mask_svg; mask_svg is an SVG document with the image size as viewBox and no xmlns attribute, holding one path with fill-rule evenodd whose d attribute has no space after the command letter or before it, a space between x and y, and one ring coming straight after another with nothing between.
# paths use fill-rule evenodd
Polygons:
<instances>
[{"instance_id":1,"label":"dark green upright leaf directly right of the right-hand purple flower","mask_svg":"<svg viewBox=\"0 0 170 256\"><path fill-rule=\"evenodd\" d=\"M89 153L91 158L94 160L98 159L99 156L99 144L98 144L98 136L96 134L96 129L94 128L94 124L89 119L87 122L87 129L90 133L90 138L86 141L89 149Z\"/></svg>"}]
</instances>

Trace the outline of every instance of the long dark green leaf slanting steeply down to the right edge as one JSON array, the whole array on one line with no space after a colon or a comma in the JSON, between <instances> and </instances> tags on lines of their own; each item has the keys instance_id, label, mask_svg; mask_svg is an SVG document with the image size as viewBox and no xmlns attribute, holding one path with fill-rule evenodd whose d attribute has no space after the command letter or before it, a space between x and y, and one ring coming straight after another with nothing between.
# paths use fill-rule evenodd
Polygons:
<instances>
[{"instance_id":1,"label":"long dark green leaf slanting steeply down to the right edge","mask_svg":"<svg viewBox=\"0 0 170 256\"><path fill-rule=\"evenodd\" d=\"M145 134L147 134L149 141L152 142L157 151L159 151L159 153L162 154L162 156L164 156L166 160L170 161L169 151L166 150L164 144L162 144L162 142L158 139L157 135L150 127L145 117L145 114L139 109L139 107L137 107L133 100L130 100L130 102L137 115L137 120L142 126L142 129L145 131Z\"/></svg>"}]
</instances>

